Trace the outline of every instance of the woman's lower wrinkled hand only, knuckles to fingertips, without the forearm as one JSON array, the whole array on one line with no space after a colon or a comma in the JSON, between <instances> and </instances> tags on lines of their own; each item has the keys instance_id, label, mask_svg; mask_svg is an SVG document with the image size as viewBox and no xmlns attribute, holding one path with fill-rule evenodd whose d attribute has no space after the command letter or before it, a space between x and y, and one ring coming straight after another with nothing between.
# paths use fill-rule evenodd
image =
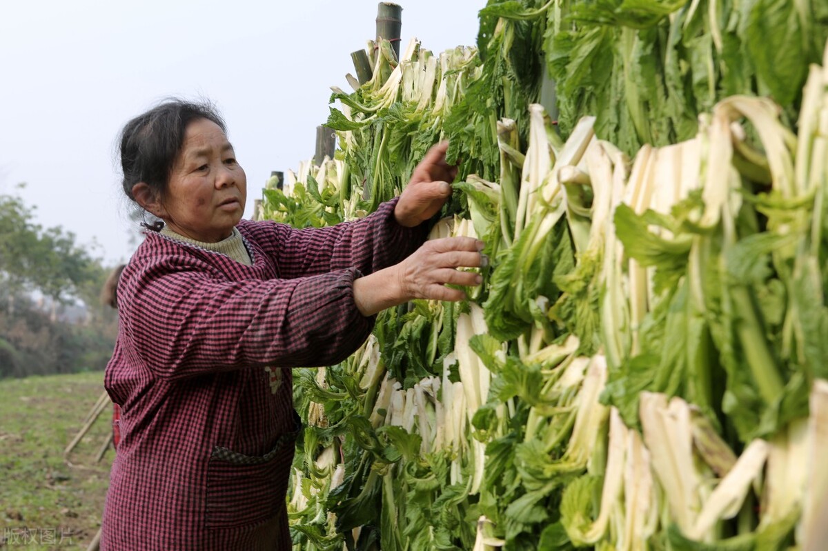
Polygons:
<instances>
[{"instance_id":1,"label":"woman's lower wrinkled hand only, knuckles to fingertips, without the forearm","mask_svg":"<svg viewBox=\"0 0 828 551\"><path fill-rule=\"evenodd\" d=\"M396 266L400 298L403 301L465 299L465 292L445 285L480 285L479 274L457 268L485 266L488 259L481 253L483 247L484 242L473 237L446 237L426 242Z\"/></svg>"}]
</instances>

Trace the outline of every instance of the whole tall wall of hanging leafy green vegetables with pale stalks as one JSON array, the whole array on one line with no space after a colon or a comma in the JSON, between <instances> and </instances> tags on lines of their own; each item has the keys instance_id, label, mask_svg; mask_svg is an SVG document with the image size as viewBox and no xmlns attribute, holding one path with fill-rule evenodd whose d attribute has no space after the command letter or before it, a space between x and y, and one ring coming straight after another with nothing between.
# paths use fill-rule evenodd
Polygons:
<instances>
[{"instance_id":1,"label":"whole tall wall of hanging leafy green vegetables with pale stalks","mask_svg":"<svg viewBox=\"0 0 828 551\"><path fill-rule=\"evenodd\" d=\"M264 216L363 216L449 139L432 236L493 262L466 303L387 310L348 361L296 371L296 549L818 549L821 9L489 2L481 50L369 47L373 80L332 97L336 159ZM752 35L780 21L788 50Z\"/></svg>"}]
</instances>

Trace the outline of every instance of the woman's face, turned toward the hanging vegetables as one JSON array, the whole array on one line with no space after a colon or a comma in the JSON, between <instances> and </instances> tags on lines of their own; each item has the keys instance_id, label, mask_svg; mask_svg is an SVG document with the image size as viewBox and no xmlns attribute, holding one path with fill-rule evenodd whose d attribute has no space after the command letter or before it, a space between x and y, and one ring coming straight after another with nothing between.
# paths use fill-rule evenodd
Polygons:
<instances>
[{"instance_id":1,"label":"woman's face, turned toward the hanging vegetables","mask_svg":"<svg viewBox=\"0 0 828 551\"><path fill-rule=\"evenodd\" d=\"M184 146L172 167L160 218L200 242L230 237L242 219L248 180L219 125L205 118L187 125Z\"/></svg>"}]
</instances>

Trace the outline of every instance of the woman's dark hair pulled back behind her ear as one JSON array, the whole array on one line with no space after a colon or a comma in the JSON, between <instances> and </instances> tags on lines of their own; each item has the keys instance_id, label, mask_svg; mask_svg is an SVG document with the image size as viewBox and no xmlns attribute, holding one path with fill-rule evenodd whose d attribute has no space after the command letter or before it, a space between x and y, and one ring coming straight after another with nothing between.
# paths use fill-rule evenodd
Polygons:
<instances>
[{"instance_id":1,"label":"woman's dark hair pulled back behind her ear","mask_svg":"<svg viewBox=\"0 0 828 551\"><path fill-rule=\"evenodd\" d=\"M187 125L203 118L227 132L224 119L212 103L178 98L167 99L127 122L121 131L120 156L123 192L129 199L135 201L132 186L138 182L147 184L156 196L164 196L172 165L184 145Z\"/></svg>"}]
</instances>

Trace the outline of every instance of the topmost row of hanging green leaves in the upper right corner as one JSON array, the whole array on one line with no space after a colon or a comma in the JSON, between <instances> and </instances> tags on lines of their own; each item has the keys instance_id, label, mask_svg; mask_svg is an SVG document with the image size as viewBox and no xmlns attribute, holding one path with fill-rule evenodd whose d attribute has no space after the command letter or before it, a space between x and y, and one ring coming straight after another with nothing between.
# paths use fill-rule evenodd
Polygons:
<instances>
[{"instance_id":1,"label":"topmost row of hanging green leaves in the upper right corner","mask_svg":"<svg viewBox=\"0 0 828 551\"><path fill-rule=\"evenodd\" d=\"M628 154L692 137L700 113L737 93L770 95L794 120L828 40L821 2L556 3L544 49L561 133L589 113Z\"/></svg>"}]
</instances>

